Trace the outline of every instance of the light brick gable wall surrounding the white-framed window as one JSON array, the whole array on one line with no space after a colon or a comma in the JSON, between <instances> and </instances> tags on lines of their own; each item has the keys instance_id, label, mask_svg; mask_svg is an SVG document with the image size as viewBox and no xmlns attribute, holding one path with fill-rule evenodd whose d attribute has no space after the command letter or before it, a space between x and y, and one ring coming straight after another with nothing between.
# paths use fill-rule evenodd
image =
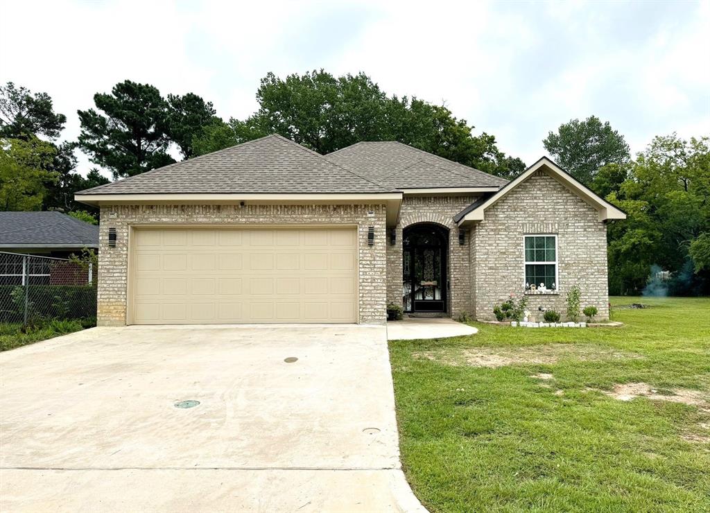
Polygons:
<instances>
[{"instance_id":1,"label":"light brick gable wall surrounding the white-framed window","mask_svg":"<svg viewBox=\"0 0 710 513\"><path fill-rule=\"evenodd\" d=\"M557 235L559 294L530 295L528 309L538 321L538 307L555 309L564 318L572 285L581 289L581 308L594 305L608 319L606 225L576 194L543 171L535 172L471 229L471 289L479 320L495 320L493 306L520 296L524 288L523 236Z\"/></svg>"}]
</instances>

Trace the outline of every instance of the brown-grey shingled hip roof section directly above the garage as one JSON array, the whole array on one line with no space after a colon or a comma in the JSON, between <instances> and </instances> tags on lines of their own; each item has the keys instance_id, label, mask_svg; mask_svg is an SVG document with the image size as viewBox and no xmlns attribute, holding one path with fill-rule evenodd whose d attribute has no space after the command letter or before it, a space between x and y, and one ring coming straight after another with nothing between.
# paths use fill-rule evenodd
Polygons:
<instances>
[{"instance_id":1,"label":"brown-grey shingled hip roof section directly above the garage","mask_svg":"<svg viewBox=\"0 0 710 513\"><path fill-rule=\"evenodd\" d=\"M77 194L386 192L394 191L274 134Z\"/></svg>"}]
</instances>

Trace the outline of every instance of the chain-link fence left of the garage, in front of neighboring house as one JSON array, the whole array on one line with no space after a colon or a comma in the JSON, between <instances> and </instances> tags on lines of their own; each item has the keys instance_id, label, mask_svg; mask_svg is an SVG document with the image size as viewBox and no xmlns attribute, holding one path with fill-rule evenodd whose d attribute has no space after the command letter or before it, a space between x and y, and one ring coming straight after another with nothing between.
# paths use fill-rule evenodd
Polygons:
<instances>
[{"instance_id":1,"label":"chain-link fence left of the garage, in front of neighboring house","mask_svg":"<svg viewBox=\"0 0 710 513\"><path fill-rule=\"evenodd\" d=\"M0 322L95 322L97 269L92 260L0 252Z\"/></svg>"}]
</instances>

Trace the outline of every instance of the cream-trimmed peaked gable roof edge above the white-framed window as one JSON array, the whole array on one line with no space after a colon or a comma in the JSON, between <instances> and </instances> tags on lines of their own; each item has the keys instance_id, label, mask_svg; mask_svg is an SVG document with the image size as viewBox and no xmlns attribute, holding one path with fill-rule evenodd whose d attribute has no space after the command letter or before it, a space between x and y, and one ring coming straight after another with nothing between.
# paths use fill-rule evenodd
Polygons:
<instances>
[{"instance_id":1,"label":"cream-trimmed peaked gable roof edge above the white-framed window","mask_svg":"<svg viewBox=\"0 0 710 513\"><path fill-rule=\"evenodd\" d=\"M488 207L496 204L496 202L505 197L508 192L525 182L525 180L527 180L528 177L530 177L530 175L534 172L543 169L555 178L555 180L567 187L567 189L572 191L574 194L577 194L577 196L584 199L584 201L591 206L594 206L594 208L596 208L599 212L599 221L606 221L607 219L626 219L626 213L623 210L607 202L606 199L594 194L591 189L579 182L568 172L564 171L549 158L542 157L540 160L537 160L535 164L520 173L518 177L515 177L515 179L508 182L508 184L506 184L506 186L501 188L498 192L486 194L473 204L460 211L454 216L454 221L457 222L459 226L483 221L484 213Z\"/></svg>"}]
</instances>

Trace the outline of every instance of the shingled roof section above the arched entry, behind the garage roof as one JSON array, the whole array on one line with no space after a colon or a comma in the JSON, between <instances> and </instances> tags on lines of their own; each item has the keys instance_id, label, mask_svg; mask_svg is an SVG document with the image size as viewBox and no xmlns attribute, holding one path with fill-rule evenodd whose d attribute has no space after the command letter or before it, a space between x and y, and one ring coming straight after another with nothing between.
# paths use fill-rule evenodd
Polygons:
<instances>
[{"instance_id":1,"label":"shingled roof section above the arched entry, behind the garage roof","mask_svg":"<svg viewBox=\"0 0 710 513\"><path fill-rule=\"evenodd\" d=\"M498 188L508 180L396 141L356 143L325 156L395 189Z\"/></svg>"}]
</instances>

